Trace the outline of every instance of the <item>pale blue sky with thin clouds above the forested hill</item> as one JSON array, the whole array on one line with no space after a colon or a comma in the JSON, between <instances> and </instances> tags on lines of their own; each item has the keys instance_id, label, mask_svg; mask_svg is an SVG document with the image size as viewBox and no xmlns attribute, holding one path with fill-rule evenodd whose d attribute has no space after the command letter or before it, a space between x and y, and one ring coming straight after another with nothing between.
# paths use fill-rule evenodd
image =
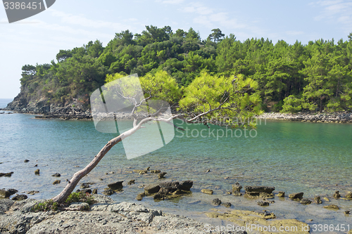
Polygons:
<instances>
[{"instance_id":1,"label":"pale blue sky with thin clouds above the forested hill","mask_svg":"<svg viewBox=\"0 0 352 234\"><path fill-rule=\"evenodd\" d=\"M56 61L61 49L96 39L106 46L116 32L141 33L146 25L168 25L173 32L192 27L201 39L220 28L240 41L346 41L352 32L352 1L56 0L46 11L11 24L0 6L0 98L18 95L23 65Z\"/></svg>"}]
</instances>

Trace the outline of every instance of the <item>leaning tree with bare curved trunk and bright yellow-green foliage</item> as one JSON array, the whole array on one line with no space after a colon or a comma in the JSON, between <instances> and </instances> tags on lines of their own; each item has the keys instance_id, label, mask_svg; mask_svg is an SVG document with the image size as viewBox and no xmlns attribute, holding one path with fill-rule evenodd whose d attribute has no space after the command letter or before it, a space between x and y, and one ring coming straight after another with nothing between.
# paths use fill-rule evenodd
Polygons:
<instances>
[{"instance_id":1,"label":"leaning tree with bare curved trunk and bright yellow-green foliage","mask_svg":"<svg viewBox=\"0 0 352 234\"><path fill-rule=\"evenodd\" d=\"M94 102L98 100L99 103L99 100L102 100L100 111L104 112L105 119L110 117L110 123L115 124L116 112L118 110L128 111L133 118L131 128L106 143L87 167L73 175L70 183L53 198L54 202L65 202L77 183L96 167L114 145L128 137L131 138L139 129L145 128L147 123L163 122L172 125L172 128L182 129L172 123L173 119L182 119L187 123L202 123L208 127L210 127L208 124L241 127L241 124L247 126L252 123L242 122L239 124L232 119L252 119L261 112L260 97L257 93L258 84L253 79L245 79L242 75L225 77L203 71L184 89L180 89L175 79L170 77L167 72L156 72L154 75L146 74L146 76L140 77L140 84L133 82L136 79L132 79L131 76L127 79L122 77L120 74L108 75L106 79L108 83L96 91L98 95L92 98L94 96L92 94L92 115L94 112L99 112L96 110L99 109L99 106L94 110ZM143 90L142 96L140 92L136 92L140 85ZM173 110L177 110L178 113L171 114L170 106L165 103L177 107ZM115 111L109 113L109 109ZM97 116L99 118L99 115ZM96 124L97 129L99 129L98 124Z\"/></svg>"}]
</instances>

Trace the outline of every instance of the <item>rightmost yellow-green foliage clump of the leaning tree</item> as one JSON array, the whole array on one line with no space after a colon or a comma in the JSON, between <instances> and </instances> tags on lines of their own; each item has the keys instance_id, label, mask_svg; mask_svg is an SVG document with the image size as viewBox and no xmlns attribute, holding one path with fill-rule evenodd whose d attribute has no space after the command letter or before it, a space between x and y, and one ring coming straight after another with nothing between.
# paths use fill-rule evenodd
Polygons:
<instances>
[{"instance_id":1,"label":"rightmost yellow-green foliage clump of the leaning tree","mask_svg":"<svg viewBox=\"0 0 352 234\"><path fill-rule=\"evenodd\" d=\"M257 82L244 78L241 74L225 77L202 71L184 89L184 98L179 102L180 110L195 114L208 112L204 115L208 119L251 119L261 113L257 89ZM210 110L216 111L209 112ZM231 122L230 120L229 123Z\"/></svg>"}]
</instances>

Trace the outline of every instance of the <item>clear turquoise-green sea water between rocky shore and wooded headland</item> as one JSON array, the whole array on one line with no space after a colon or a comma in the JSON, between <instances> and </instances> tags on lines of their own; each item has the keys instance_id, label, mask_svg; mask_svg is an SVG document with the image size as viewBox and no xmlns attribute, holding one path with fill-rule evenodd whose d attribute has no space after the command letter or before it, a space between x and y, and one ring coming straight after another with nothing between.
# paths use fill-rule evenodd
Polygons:
<instances>
[{"instance_id":1,"label":"clear turquoise-green sea water between rocky shore and wooded headland","mask_svg":"<svg viewBox=\"0 0 352 234\"><path fill-rule=\"evenodd\" d=\"M180 122L179 122L180 124ZM186 128L186 125L183 125ZM188 126L191 130L208 133L206 126ZM153 202L144 197L142 203L173 212L196 215L213 206L210 201L219 197L231 202L235 209L260 210L253 200L234 197L226 192L232 184L242 186L275 186L275 192L286 194L304 192L304 197L315 195L332 197L335 190L344 195L351 188L352 124L322 124L307 122L275 122L264 120L255 131L242 132L241 137L183 137L179 131L165 147L142 157L127 160L122 144L114 148L82 182L95 182L92 188L101 192L113 181L135 179L122 193L112 195L116 201L137 202L134 198L143 192L142 186L157 183L154 174L139 175L133 169L161 169L166 181L194 181L192 194L179 200ZM194 135L196 131L193 131ZM255 136L256 135L256 136ZM94 129L92 121L63 121L34 119L34 115L0 115L0 172L13 171L11 177L1 177L1 188L15 188L20 192L39 190L33 198L54 197L65 186L65 179L85 167L99 150L116 134L102 134ZM239 136L239 131L237 132ZM255 137L252 137L255 136ZM140 145L143 147L143 145ZM24 160L30 162L24 163ZM37 164L38 167L34 167ZM34 170L40 169L40 176ZM208 173L207 171L210 169ZM113 171L114 174L106 175ZM54 186L54 173L61 174L61 183ZM102 178L101 181L99 178ZM126 185L127 183L124 183ZM214 195L200 193L202 188L214 190ZM200 201L200 202L195 202ZM339 204L339 212L322 209L322 205L303 206L289 200L277 200L266 207L280 218L301 221L313 219L316 223L351 223L344 216L352 209L352 201L332 200ZM232 209L234 209L232 208ZM188 213L187 213L188 212ZM197 213L202 216L201 213Z\"/></svg>"}]
</instances>

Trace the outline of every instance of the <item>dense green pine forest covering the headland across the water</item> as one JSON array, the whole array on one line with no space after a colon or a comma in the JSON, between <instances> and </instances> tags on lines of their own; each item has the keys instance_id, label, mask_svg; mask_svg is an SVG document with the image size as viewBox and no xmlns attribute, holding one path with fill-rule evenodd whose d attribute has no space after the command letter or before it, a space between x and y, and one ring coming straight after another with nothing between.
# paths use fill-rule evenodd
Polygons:
<instances>
[{"instance_id":1,"label":"dense green pine forest covering the headland across the water","mask_svg":"<svg viewBox=\"0 0 352 234\"><path fill-rule=\"evenodd\" d=\"M273 44L269 39L239 41L220 29L201 40L199 32L172 32L168 26L146 26L142 34L115 34L106 47L99 40L56 55L58 63L25 65L21 93L27 101L46 96L49 103L89 95L108 75L148 77L168 72L179 86L189 86L202 70L209 74L242 74L258 82L264 110L298 112L352 110L352 33L334 39Z\"/></svg>"}]
</instances>

